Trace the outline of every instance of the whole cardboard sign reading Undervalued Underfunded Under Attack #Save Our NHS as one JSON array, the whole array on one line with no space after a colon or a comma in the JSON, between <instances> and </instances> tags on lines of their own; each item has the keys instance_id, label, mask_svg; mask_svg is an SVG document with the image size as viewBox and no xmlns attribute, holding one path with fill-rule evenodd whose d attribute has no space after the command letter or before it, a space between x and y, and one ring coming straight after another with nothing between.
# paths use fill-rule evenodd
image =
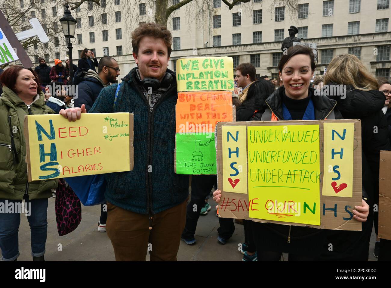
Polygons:
<instances>
[{"instance_id":1,"label":"whole cardboard sign reading Undervalued Underfunded Under Attack #Save Our NHS","mask_svg":"<svg viewBox=\"0 0 391 288\"><path fill-rule=\"evenodd\" d=\"M334 149L334 153L325 149ZM343 153L337 154L341 149ZM346 163L332 162L338 157ZM347 189L341 188L341 181L352 186L352 195L338 195ZM222 190L221 217L361 230L352 212L362 201L361 122L218 123L217 182ZM325 183L334 194L322 193Z\"/></svg>"}]
</instances>

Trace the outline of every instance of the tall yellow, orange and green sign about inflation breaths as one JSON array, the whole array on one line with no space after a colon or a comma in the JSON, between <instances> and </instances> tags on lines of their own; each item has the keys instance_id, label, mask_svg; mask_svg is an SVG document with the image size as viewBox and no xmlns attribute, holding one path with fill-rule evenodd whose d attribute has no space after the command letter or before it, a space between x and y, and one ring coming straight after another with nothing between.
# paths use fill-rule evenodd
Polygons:
<instances>
[{"instance_id":1,"label":"tall yellow, orange and green sign about inflation breaths","mask_svg":"<svg viewBox=\"0 0 391 288\"><path fill-rule=\"evenodd\" d=\"M175 172L216 174L215 127L234 121L231 57L177 60Z\"/></svg>"}]
</instances>

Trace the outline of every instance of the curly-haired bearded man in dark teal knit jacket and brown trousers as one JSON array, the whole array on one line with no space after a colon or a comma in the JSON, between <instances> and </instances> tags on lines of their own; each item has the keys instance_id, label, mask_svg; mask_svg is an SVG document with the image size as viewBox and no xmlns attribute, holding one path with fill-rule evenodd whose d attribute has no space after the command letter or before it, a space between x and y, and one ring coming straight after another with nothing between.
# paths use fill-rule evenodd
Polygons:
<instances>
[{"instance_id":1,"label":"curly-haired bearded man in dark teal knit jacket and brown trousers","mask_svg":"<svg viewBox=\"0 0 391 288\"><path fill-rule=\"evenodd\" d=\"M105 174L107 234L117 261L175 261L185 227L188 175L174 173L175 73L168 70L172 36L146 23L132 33L133 68L102 89L90 113L134 112L133 171ZM69 121L84 107L61 110ZM115 159L113 159L115 161Z\"/></svg>"}]
</instances>

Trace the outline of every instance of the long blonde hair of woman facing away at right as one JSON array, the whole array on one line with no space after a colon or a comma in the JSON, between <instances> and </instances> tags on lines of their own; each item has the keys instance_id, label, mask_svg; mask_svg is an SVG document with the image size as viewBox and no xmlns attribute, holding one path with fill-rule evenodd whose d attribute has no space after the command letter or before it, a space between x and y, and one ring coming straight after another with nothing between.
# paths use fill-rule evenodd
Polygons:
<instances>
[{"instance_id":1,"label":"long blonde hair of woman facing away at right","mask_svg":"<svg viewBox=\"0 0 391 288\"><path fill-rule=\"evenodd\" d=\"M335 56L327 67L324 84L350 85L362 91L378 90L376 78L357 56L341 54Z\"/></svg>"}]
</instances>

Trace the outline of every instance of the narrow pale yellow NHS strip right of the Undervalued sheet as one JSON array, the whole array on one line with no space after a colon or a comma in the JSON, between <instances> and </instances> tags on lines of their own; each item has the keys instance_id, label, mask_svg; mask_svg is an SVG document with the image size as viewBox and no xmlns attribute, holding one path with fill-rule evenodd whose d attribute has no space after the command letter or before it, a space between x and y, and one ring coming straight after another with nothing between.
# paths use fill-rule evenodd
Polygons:
<instances>
[{"instance_id":1,"label":"narrow pale yellow NHS strip right of the Undervalued sheet","mask_svg":"<svg viewBox=\"0 0 391 288\"><path fill-rule=\"evenodd\" d=\"M353 197L354 123L324 123L322 195Z\"/></svg>"}]
</instances>

